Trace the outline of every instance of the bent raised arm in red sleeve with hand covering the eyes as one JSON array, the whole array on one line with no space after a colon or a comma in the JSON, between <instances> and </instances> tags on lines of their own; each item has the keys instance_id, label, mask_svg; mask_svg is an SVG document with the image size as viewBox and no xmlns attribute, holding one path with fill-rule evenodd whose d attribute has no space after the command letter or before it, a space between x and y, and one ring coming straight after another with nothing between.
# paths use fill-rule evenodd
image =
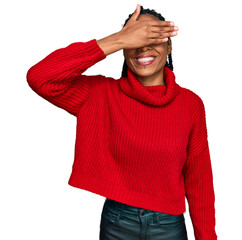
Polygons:
<instances>
[{"instance_id":1,"label":"bent raised arm in red sleeve with hand covering the eyes","mask_svg":"<svg viewBox=\"0 0 242 240\"><path fill-rule=\"evenodd\" d=\"M169 21L136 21L139 13L140 6L117 33L100 40L75 42L50 53L28 70L29 86L47 101L76 116L88 99L88 89L108 81L102 75L83 75L89 67L121 49L159 44L172 36L174 26Z\"/></svg>"}]
</instances>

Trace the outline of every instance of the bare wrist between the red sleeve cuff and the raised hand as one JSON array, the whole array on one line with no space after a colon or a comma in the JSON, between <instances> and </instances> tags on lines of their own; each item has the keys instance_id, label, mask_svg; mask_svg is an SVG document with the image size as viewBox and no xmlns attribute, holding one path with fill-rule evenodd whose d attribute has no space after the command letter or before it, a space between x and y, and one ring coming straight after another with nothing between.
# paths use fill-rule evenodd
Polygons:
<instances>
[{"instance_id":1,"label":"bare wrist between the red sleeve cuff and the raised hand","mask_svg":"<svg viewBox=\"0 0 242 240\"><path fill-rule=\"evenodd\" d=\"M97 40L97 44L103 50L105 55L112 54L124 48L124 43L122 41L120 32Z\"/></svg>"}]
</instances>

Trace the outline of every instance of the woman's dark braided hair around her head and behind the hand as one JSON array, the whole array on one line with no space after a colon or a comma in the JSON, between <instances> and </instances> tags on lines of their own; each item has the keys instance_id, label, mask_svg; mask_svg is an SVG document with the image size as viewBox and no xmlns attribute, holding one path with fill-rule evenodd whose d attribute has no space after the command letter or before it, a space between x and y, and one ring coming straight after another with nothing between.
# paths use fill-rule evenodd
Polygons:
<instances>
[{"instance_id":1,"label":"woman's dark braided hair around her head and behind the hand","mask_svg":"<svg viewBox=\"0 0 242 240\"><path fill-rule=\"evenodd\" d=\"M143 14L151 14L151 15L155 16L156 18L160 19L161 21L165 21L165 18L160 13L157 13L153 9L152 10L150 10L149 8L144 9L143 6L140 5L140 15L143 15ZM129 14L129 17L125 20L123 27L127 24L128 20L132 17L132 15L133 15L133 13ZM170 39L170 37L168 37L168 39ZM166 61L165 66L167 66L168 68L170 68L173 71L171 53L168 54L168 58L169 58L169 63ZM126 63L126 59L124 59L122 77L127 77L127 69L128 69L128 65Z\"/></svg>"}]
</instances>

